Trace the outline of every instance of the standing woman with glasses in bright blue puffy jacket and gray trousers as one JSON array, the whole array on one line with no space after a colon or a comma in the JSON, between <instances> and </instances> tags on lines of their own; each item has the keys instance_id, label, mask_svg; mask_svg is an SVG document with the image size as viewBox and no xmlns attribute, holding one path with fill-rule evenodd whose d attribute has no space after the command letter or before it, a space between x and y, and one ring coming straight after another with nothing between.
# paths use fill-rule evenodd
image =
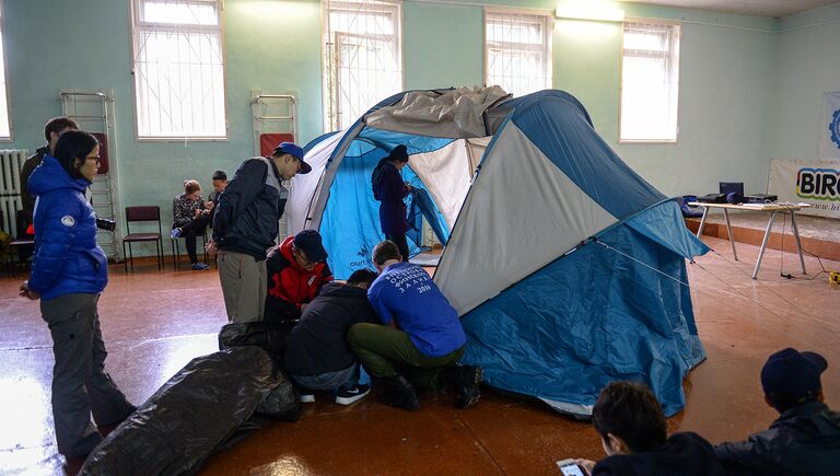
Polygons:
<instances>
[{"instance_id":1,"label":"standing woman with glasses in bright blue puffy jacket and gray trousers","mask_svg":"<svg viewBox=\"0 0 840 476\"><path fill-rule=\"evenodd\" d=\"M89 454L102 441L91 423L110 427L133 410L105 373L96 303L108 282L108 260L96 244L96 214L84 197L100 166L100 146L88 132L61 135L30 177L35 201L35 255L20 294L40 299L52 335L52 415L58 451Z\"/></svg>"}]
</instances>

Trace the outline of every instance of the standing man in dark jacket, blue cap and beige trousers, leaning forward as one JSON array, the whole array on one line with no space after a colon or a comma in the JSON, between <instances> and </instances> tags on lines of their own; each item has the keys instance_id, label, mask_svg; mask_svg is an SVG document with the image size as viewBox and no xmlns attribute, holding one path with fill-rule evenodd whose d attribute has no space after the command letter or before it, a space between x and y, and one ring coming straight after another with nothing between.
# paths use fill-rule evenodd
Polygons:
<instances>
[{"instance_id":1,"label":"standing man in dark jacket, blue cap and beige trousers, leaning forward","mask_svg":"<svg viewBox=\"0 0 840 476\"><path fill-rule=\"evenodd\" d=\"M244 161L219 196L209 253L219 253L219 279L230 322L262 320L266 249L279 233L281 181L306 174L303 149L282 142L270 158Z\"/></svg>"}]
</instances>

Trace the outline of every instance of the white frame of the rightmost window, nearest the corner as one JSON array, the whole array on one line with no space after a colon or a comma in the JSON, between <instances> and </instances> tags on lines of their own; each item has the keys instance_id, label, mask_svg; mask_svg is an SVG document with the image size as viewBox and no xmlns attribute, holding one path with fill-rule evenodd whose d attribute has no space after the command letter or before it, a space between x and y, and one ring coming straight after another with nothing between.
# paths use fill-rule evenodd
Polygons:
<instances>
[{"instance_id":1,"label":"white frame of the rightmost window, nearest the corner","mask_svg":"<svg viewBox=\"0 0 840 476\"><path fill-rule=\"evenodd\" d=\"M625 32L628 24L644 24L649 26L663 26L669 31L668 33L668 51L656 51L651 49L633 49L628 50L625 45ZM682 36L682 27L678 22L666 22L661 20L651 19L627 19L621 27L621 62L619 72L619 114L618 114L618 141L619 143L676 143L679 138L679 56L680 56L680 43ZM625 57L646 57L646 58L662 58L665 61L670 61L675 65L672 69L672 78L666 84L667 90L664 94L670 95L669 108L670 124L673 126L672 135L666 137L665 135L656 136L651 133L650 137L626 137L623 130L623 120L628 111L625 105L625 78L627 72L625 71ZM670 127L669 127L670 129Z\"/></svg>"}]
</instances>

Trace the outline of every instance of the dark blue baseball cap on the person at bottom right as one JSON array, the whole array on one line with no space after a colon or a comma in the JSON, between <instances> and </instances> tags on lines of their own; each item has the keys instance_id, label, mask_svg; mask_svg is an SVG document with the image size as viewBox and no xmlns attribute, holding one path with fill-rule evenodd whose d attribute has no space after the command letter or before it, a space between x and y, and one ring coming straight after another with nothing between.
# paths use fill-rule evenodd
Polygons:
<instances>
[{"instance_id":1,"label":"dark blue baseball cap on the person at bottom right","mask_svg":"<svg viewBox=\"0 0 840 476\"><path fill-rule=\"evenodd\" d=\"M819 353L800 352L789 347L767 359L761 369L761 386L773 403L804 403L816 397L822 388L819 375L827 368L828 362Z\"/></svg>"}]
</instances>

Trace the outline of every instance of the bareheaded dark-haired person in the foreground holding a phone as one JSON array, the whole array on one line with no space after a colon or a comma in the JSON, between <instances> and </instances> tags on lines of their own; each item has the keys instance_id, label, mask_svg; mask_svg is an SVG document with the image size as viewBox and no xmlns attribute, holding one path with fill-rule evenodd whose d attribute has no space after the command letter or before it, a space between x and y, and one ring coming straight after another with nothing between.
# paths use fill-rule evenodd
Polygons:
<instances>
[{"instance_id":1,"label":"bareheaded dark-haired person in the foreground holding a phone","mask_svg":"<svg viewBox=\"0 0 840 476\"><path fill-rule=\"evenodd\" d=\"M662 406L646 385L612 382L592 409L607 457L578 460L590 475L723 475L711 443L692 432L667 438Z\"/></svg>"}]
</instances>

